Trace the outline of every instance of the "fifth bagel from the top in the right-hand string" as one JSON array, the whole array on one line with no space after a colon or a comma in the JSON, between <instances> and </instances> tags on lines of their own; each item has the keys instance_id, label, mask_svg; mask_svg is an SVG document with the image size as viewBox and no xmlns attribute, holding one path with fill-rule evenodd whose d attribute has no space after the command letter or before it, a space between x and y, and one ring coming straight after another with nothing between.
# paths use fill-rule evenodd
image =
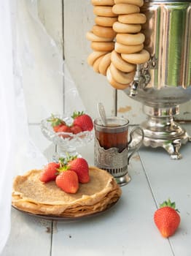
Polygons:
<instances>
[{"instance_id":1,"label":"fifth bagel from the top in the right-hand string","mask_svg":"<svg viewBox=\"0 0 191 256\"><path fill-rule=\"evenodd\" d=\"M116 36L116 42L123 45L141 45L144 42L144 34L122 34L119 33Z\"/></svg>"}]
</instances>

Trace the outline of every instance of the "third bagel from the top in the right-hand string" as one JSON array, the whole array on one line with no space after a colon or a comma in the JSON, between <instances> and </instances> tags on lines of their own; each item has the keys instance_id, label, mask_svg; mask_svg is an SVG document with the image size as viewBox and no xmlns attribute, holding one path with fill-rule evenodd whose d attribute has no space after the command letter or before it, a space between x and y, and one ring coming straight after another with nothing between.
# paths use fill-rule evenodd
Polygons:
<instances>
[{"instance_id":1,"label":"third bagel from the top in the right-hand string","mask_svg":"<svg viewBox=\"0 0 191 256\"><path fill-rule=\"evenodd\" d=\"M122 14L118 16L118 21L128 24L143 24L146 22L146 16L143 13Z\"/></svg>"}]
</instances>

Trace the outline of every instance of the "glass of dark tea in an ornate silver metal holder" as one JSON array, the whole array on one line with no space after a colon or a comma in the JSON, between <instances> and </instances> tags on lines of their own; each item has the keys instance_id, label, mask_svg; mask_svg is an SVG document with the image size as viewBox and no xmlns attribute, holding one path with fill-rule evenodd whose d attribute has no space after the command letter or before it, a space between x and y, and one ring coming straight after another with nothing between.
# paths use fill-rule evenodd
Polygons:
<instances>
[{"instance_id":1,"label":"glass of dark tea in an ornate silver metal holder","mask_svg":"<svg viewBox=\"0 0 191 256\"><path fill-rule=\"evenodd\" d=\"M129 136L128 128L129 121L126 118L106 117L106 125L103 125L101 118L94 120L94 164L111 173L120 186L130 181L130 159L144 140L141 127L133 128Z\"/></svg>"}]
</instances>

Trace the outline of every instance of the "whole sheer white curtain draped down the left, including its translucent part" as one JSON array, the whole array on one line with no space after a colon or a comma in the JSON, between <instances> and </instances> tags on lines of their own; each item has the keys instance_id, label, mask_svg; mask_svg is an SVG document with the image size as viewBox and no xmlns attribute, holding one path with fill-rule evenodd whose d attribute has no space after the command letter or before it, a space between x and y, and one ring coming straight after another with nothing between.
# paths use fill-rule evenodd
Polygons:
<instances>
[{"instance_id":1,"label":"whole sheer white curtain draped down the left, including its translucent part","mask_svg":"<svg viewBox=\"0 0 191 256\"><path fill-rule=\"evenodd\" d=\"M26 102L34 104L36 116L42 113L44 118L60 107L53 96L55 90L61 90L58 83L63 79L65 64L39 20L36 1L0 0L0 254L11 227L12 179L47 162L29 136ZM41 72L37 73L38 69ZM65 110L70 112L74 106L85 110L66 66L65 69ZM30 102L31 94L39 94L39 86L44 86L44 91L46 86L52 86L52 105L43 95L39 105Z\"/></svg>"}]
</instances>

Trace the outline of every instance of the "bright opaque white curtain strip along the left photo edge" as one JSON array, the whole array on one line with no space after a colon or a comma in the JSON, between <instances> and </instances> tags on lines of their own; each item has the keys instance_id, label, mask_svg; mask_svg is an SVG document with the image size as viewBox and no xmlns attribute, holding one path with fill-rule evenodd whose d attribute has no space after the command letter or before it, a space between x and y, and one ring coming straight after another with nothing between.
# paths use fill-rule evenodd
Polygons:
<instances>
[{"instance_id":1,"label":"bright opaque white curtain strip along the left photo edge","mask_svg":"<svg viewBox=\"0 0 191 256\"><path fill-rule=\"evenodd\" d=\"M15 83L9 1L0 1L0 252L9 236L12 176L15 165Z\"/></svg>"}]
</instances>

